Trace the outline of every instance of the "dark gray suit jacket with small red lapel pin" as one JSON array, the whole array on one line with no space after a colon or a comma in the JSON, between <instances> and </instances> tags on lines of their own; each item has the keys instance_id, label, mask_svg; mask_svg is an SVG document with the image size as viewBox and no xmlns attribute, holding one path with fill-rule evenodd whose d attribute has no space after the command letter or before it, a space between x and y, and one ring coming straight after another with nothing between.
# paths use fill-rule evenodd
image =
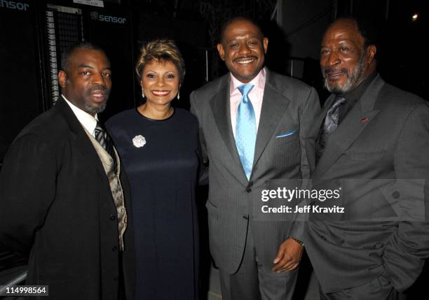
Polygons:
<instances>
[{"instance_id":1,"label":"dark gray suit jacket with small red lapel pin","mask_svg":"<svg viewBox=\"0 0 429 300\"><path fill-rule=\"evenodd\" d=\"M312 176L315 185L341 185L345 207L343 214L311 214L306 227L306 250L324 292L384 271L396 290L414 283L429 255L422 222L429 215L428 153L428 103L377 76L327 141Z\"/></svg>"}]
</instances>

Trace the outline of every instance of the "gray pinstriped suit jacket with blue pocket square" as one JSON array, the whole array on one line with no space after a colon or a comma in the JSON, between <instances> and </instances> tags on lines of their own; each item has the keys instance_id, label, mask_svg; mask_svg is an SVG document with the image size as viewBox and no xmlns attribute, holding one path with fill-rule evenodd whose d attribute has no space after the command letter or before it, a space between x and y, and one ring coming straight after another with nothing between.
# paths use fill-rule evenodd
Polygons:
<instances>
[{"instance_id":1,"label":"gray pinstriped suit jacket with blue pocket square","mask_svg":"<svg viewBox=\"0 0 429 300\"><path fill-rule=\"evenodd\" d=\"M315 136L309 131L320 103L312 87L267 70L252 175L247 180L231 127L229 85L226 74L191 94L203 162L209 165L210 251L219 268L234 273L243 257L247 224L252 222L257 255L271 269L280 243L291 235L293 220L261 213L261 190L271 179L310 176ZM286 132L294 134L276 138ZM294 230L299 238L298 227Z\"/></svg>"}]
</instances>

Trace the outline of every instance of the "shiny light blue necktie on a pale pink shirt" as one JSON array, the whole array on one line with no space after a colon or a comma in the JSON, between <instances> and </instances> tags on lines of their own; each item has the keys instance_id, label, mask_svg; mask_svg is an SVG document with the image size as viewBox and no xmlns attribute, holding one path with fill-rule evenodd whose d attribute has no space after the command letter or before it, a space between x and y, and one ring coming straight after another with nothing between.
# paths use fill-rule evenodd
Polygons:
<instances>
[{"instance_id":1,"label":"shiny light blue necktie on a pale pink shirt","mask_svg":"<svg viewBox=\"0 0 429 300\"><path fill-rule=\"evenodd\" d=\"M247 179L250 178L252 173L254 145L257 136L254 109L252 102L247 97L252 87L253 85L240 85L238 87L243 97L241 97L240 105L238 106L236 120L236 146Z\"/></svg>"}]
</instances>

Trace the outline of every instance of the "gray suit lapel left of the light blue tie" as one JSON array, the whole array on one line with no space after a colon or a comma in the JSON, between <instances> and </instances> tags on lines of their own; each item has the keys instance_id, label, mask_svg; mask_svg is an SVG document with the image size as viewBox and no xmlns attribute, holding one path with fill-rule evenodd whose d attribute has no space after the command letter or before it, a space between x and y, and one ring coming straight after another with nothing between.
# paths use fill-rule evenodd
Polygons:
<instances>
[{"instance_id":1,"label":"gray suit lapel left of the light blue tie","mask_svg":"<svg viewBox=\"0 0 429 300\"><path fill-rule=\"evenodd\" d=\"M231 124L231 109L229 104L229 80L230 76L224 76L224 83L219 88L219 92L210 99L210 106L214 120L219 129L219 133L224 140L226 148L229 150L229 154L233 158L233 161L240 168L240 178L243 178L247 182L243 166L241 164L240 156L238 155L236 147L236 139L234 138Z\"/></svg>"}]
</instances>

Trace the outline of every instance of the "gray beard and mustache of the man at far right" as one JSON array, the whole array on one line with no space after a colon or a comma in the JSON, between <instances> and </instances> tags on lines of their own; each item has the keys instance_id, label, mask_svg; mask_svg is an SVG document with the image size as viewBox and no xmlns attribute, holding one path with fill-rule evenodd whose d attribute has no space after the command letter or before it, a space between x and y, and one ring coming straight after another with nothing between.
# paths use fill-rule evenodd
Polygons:
<instances>
[{"instance_id":1,"label":"gray beard and mustache of the man at far right","mask_svg":"<svg viewBox=\"0 0 429 300\"><path fill-rule=\"evenodd\" d=\"M365 71L365 55L367 51L362 51L362 55L359 57L359 62L357 66L352 70L352 73L349 75L347 69L334 69L334 68L327 68L322 70L322 76L325 79L325 89L327 89L329 92L332 92L332 94L344 94L346 92L350 92L355 87L357 81L360 80L362 77L364 71ZM341 73L345 73L347 76L346 83L344 83L342 86L334 86L329 87L328 80L326 79L325 73L330 73L333 71L341 71Z\"/></svg>"}]
</instances>

